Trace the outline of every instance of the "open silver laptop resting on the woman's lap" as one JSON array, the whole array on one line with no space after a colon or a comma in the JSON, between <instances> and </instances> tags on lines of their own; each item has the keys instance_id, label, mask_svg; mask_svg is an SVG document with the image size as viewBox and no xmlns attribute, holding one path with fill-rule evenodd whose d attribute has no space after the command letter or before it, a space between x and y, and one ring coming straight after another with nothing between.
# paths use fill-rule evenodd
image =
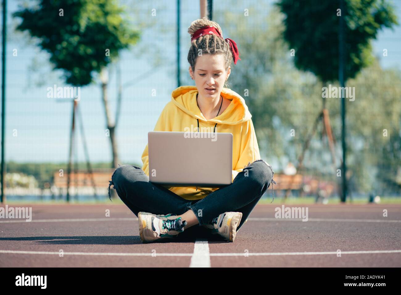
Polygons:
<instances>
[{"instance_id":1,"label":"open silver laptop resting on the woman's lap","mask_svg":"<svg viewBox=\"0 0 401 295\"><path fill-rule=\"evenodd\" d=\"M233 134L148 133L149 181L164 187L222 187L231 184Z\"/></svg>"}]
</instances>

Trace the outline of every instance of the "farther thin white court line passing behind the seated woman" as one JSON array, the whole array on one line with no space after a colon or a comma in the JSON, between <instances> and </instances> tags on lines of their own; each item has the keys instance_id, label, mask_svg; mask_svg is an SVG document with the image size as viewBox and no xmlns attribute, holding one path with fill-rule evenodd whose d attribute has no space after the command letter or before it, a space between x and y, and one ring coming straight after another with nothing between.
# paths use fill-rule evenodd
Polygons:
<instances>
[{"instance_id":1,"label":"farther thin white court line passing behind the seated woman","mask_svg":"<svg viewBox=\"0 0 401 295\"><path fill-rule=\"evenodd\" d=\"M18 222L83 222L83 221L137 221L138 218L66 218L66 219L37 219L37 220L0 220L0 223L18 223ZM248 221L301 221L302 218L267 218L250 217ZM308 221L328 221L328 222L401 222L401 220L385 219L342 219L342 218L308 218Z\"/></svg>"}]
</instances>

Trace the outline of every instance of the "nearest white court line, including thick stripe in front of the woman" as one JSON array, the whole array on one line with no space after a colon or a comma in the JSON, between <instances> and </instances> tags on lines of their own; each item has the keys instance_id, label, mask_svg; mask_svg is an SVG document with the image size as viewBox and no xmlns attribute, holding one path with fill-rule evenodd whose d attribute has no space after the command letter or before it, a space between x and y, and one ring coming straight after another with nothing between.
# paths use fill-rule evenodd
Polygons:
<instances>
[{"instance_id":1,"label":"nearest white court line, including thick stripe in front of the woman","mask_svg":"<svg viewBox=\"0 0 401 295\"><path fill-rule=\"evenodd\" d=\"M210 267L210 256L245 256L245 253L209 253L209 245L205 241L198 241L194 253L156 253L156 256L192 256L190 267ZM337 251L327 252L248 252L249 256L284 256L284 255L337 255ZM401 253L401 250L369 250L369 251L341 251L341 254L382 254ZM0 254L47 254L59 255L60 252L48 251L17 251L0 250ZM149 253L107 253L107 252L64 252L64 255L94 255L94 256L152 256ZM153 254L154 256L154 254ZM195 257L195 258L194 258ZM206 261L201 261L204 259Z\"/></svg>"}]
</instances>

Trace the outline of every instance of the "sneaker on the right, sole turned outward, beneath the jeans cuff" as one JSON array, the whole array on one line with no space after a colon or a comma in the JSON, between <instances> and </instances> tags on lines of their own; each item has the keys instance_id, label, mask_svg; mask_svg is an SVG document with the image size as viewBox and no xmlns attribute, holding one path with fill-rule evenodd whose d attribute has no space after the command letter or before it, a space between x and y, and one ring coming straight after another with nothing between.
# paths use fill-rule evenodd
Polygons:
<instances>
[{"instance_id":1,"label":"sneaker on the right, sole turned outward, beneath the jeans cuff","mask_svg":"<svg viewBox=\"0 0 401 295\"><path fill-rule=\"evenodd\" d=\"M224 212L213 218L211 222L203 224L203 227L210 229L212 234L219 234L230 242L234 242L241 218L242 212Z\"/></svg>"}]
</instances>

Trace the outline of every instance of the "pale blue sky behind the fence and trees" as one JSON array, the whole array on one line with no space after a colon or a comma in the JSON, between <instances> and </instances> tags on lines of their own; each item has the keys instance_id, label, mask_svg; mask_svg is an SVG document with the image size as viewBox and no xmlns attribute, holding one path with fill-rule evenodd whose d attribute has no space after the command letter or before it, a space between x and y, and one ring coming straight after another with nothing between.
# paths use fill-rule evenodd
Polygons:
<instances>
[{"instance_id":1,"label":"pale blue sky behind the fence and trees","mask_svg":"<svg viewBox=\"0 0 401 295\"><path fill-rule=\"evenodd\" d=\"M127 3L130 3L128 0ZM392 1L401 23L401 1ZM11 28L18 20L13 20L11 14L18 8L20 1L8 2L8 26ZM142 3L142 2L141 2ZM171 5L171 4L174 5ZM200 15L198 1L181 1L181 67L186 69L186 61L190 39L186 32L190 22ZM244 7L253 1L244 1ZM261 1L258 1L258 4ZM261 13L267 13L273 1L264 1ZM148 31L140 41L140 46L160 45L159 50L167 58L164 65L152 69L151 55L140 55L136 48L122 52L121 63L122 83L137 81L135 85L127 86L123 91L122 111L117 129L117 142L120 163L142 164L141 155L147 143L147 134L152 131L163 107L171 100L171 92L176 88L176 6L175 1L150 1L140 7L144 20L155 21L150 16L151 9L156 8L156 21L163 22L166 33L158 35L156 31ZM229 9L232 13L243 14L243 7L227 5L226 1L214 1L214 9ZM149 14L147 16L146 14ZM214 20L219 22L218 16ZM170 30L171 28L171 30ZM224 28L223 28L224 31ZM235 36L227 36L235 40ZM156 42L155 39L156 38ZM168 44L168 46L166 46ZM154 45L153 45L154 46ZM139 46L138 46L139 48ZM388 49L389 56L381 57L382 67L401 68L401 29L394 31L385 29L379 32L378 39L373 41L374 53L381 56L383 49ZM18 56L13 57L13 49L18 50ZM239 50L241 47L239 45ZM61 71L51 71L47 62L48 54L38 47L28 43L21 34L8 33L7 44L7 102L6 102L6 161L17 162L62 162L68 160L69 134L71 128L71 102L57 102L47 98L47 87L65 85ZM237 66L241 66L238 63ZM32 69L33 68L33 69ZM182 74L184 85L194 85L188 72ZM189 83L189 84L188 84ZM109 105L112 118L115 114L116 102L115 71L110 73ZM151 96L151 90L156 89L156 97ZM85 137L91 162L111 161L110 140L105 136L105 115L101 102L100 87L97 84L81 88L79 108L83 115ZM78 161L84 161L83 144L79 125L76 126L76 155ZM16 135L16 136L15 136ZM262 151L261 151L262 154ZM263 157L263 156L262 156ZM274 159L269 159L274 163Z\"/></svg>"}]
</instances>

